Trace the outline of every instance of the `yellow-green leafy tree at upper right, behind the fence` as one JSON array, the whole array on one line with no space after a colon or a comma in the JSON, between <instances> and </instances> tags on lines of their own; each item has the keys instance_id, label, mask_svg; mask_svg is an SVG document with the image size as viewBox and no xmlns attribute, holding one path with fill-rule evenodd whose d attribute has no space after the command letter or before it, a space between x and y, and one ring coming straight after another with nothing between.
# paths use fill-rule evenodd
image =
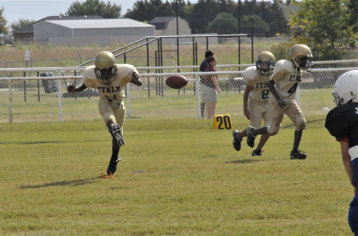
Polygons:
<instances>
[{"instance_id":1,"label":"yellow-green leafy tree at upper right, behind the fence","mask_svg":"<svg viewBox=\"0 0 358 236\"><path fill-rule=\"evenodd\" d=\"M357 31L353 28L357 22L352 25L349 3L349 0L292 1L299 9L290 16L289 25L291 29L301 28L294 32L294 39L314 49L315 60L342 59L343 51L339 49L352 47L356 42Z\"/></svg>"}]
</instances>

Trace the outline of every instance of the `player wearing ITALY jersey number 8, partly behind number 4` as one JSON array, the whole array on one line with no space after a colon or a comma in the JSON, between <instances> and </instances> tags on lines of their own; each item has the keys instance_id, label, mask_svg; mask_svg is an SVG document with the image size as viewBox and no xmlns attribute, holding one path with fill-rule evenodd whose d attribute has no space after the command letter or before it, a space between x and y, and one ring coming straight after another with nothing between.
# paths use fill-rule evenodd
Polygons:
<instances>
[{"instance_id":1,"label":"player wearing ITALY jersey number 8, partly behind number 4","mask_svg":"<svg viewBox=\"0 0 358 236\"><path fill-rule=\"evenodd\" d=\"M260 128L262 119L264 125L270 124L268 83L274 67L274 55L271 52L263 51L257 55L256 66L250 66L242 73L243 81L247 84L243 96L244 115L250 120L252 127ZM247 136L247 129L241 132L234 130L232 136L234 137L232 141L234 149L240 151L242 138ZM252 151L252 156L262 156L261 149L269 137L269 134L261 135L260 142Z\"/></svg>"}]
</instances>

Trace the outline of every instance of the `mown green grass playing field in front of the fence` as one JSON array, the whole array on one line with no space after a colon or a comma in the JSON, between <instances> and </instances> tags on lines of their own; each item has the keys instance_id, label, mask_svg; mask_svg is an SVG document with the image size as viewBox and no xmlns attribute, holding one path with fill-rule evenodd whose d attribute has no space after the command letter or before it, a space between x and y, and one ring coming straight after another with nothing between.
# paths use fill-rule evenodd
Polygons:
<instances>
[{"instance_id":1,"label":"mown green grass playing field in front of the fence","mask_svg":"<svg viewBox=\"0 0 358 236\"><path fill-rule=\"evenodd\" d=\"M0 123L0 235L350 235L339 144L306 118L306 160L286 116L262 157L212 120L127 119L113 179L103 121Z\"/></svg>"}]
</instances>

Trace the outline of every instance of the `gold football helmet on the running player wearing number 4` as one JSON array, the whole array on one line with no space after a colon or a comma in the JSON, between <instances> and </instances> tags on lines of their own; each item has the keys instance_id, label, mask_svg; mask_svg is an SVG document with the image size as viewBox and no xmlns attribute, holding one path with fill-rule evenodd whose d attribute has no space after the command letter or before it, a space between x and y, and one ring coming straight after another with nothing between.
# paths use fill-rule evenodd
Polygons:
<instances>
[{"instance_id":1,"label":"gold football helmet on the running player wearing number 4","mask_svg":"<svg viewBox=\"0 0 358 236\"><path fill-rule=\"evenodd\" d=\"M296 44L290 49L290 60L306 72L310 72L313 66L311 62L312 53L311 49L304 44Z\"/></svg>"}]
</instances>

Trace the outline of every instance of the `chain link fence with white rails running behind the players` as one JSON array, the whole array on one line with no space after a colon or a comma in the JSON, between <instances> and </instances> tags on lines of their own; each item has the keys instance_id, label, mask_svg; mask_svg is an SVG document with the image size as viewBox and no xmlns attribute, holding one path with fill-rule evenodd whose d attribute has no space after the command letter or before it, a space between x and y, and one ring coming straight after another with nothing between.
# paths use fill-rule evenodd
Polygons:
<instances>
[{"instance_id":1,"label":"chain link fence with white rails running behind the players","mask_svg":"<svg viewBox=\"0 0 358 236\"><path fill-rule=\"evenodd\" d=\"M311 74L304 76L296 101L305 116L323 115L332 109L332 91L337 78L358 68L358 60L314 62ZM216 115L243 115L242 71L253 64L217 65L219 86ZM195 119L200 117L198 66L139 67L143 85L126 87L127 118ZM88 88L69 94L68 83L81 83L84 67L0 69L0 122L39 122L102 120L98 113L98 91ZM174 73L188 78L188 85L174 90L165 79ZM210 74L210 73L207 73Z\"/></svg>"}]
</instances>

